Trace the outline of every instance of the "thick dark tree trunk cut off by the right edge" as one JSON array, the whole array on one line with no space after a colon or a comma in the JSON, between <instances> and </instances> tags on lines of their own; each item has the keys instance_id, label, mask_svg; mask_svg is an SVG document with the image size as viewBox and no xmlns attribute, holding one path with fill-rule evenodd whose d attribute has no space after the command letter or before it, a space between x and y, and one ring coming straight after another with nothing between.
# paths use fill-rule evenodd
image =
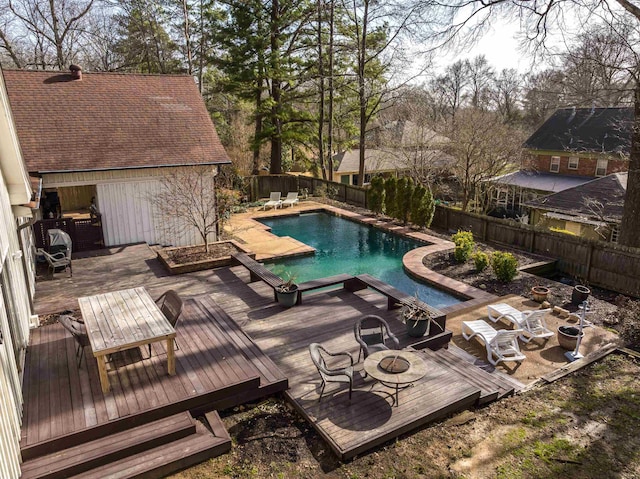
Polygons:
<instances>
[{"instance_id":1,"label":"thick dark tree trunk cut off by the right edge","mask_svg":"<svg viewBox=\"0 0 640 479\"><path fill-rule=\"evenodd\" d=\"M629 154L629 176L624 212L620 222L618 243L640 248L640 83L634 88L634 116L631 129L631 152Z\"/></svg>"}]
</instances>

